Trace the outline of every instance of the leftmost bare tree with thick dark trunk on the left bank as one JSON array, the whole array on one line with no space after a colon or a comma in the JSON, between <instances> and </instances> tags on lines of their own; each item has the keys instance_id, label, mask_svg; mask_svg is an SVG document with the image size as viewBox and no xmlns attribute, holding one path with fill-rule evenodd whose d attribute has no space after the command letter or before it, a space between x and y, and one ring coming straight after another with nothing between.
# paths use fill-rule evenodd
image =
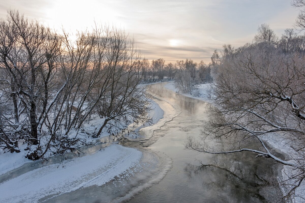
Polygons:
<instances>
[{"instance_id":1,"label":"leftmost bare tree with thick dark trunk on the left bank","mask_svg":"<svg viewBox=\"0 0 305 203\"><path fill-rule=\"evenodd\" d=\"M53 80L57 77L57 63L62 53L61 38L15 11L9 11L7 20L1 21L1 38L2 91L4 96L12 96L14 112L13 123L2 114L2 121L6 123L2 126L6 128L2 135L14 134L15 138L21 136L18 138L37 145L41 133L39 124L45 120L48 101L57 99L51 95L60 87Z\"/></svg>"}]
</instances>

